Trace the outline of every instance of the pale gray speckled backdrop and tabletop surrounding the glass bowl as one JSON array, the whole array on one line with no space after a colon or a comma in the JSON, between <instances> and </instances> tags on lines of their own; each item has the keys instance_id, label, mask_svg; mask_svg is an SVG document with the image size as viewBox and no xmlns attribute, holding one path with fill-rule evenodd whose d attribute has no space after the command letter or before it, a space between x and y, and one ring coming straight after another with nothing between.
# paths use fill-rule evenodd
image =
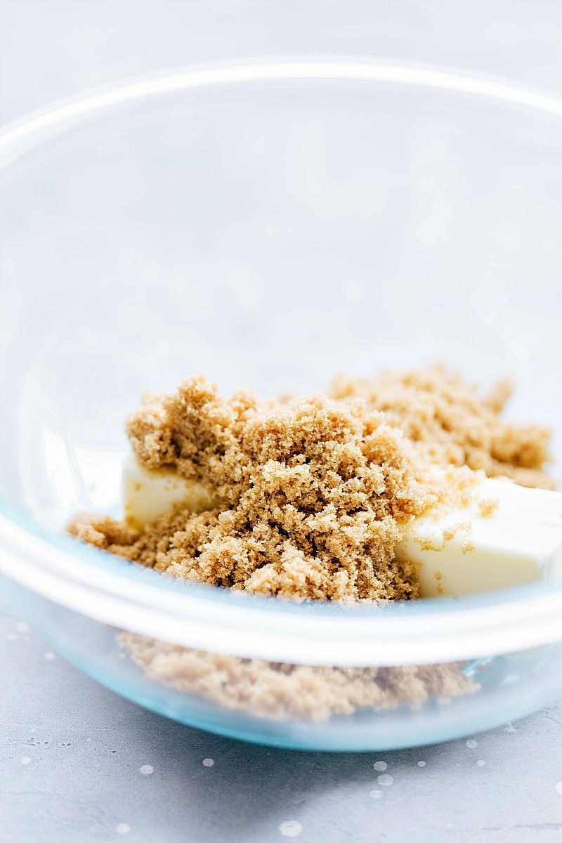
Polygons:
<instances>
[{"instance_id":1,"label":"pale gray speckled backdrop and tabletop surrounding the glass bowl","mask_svg":"<svg viewBox=\"0 0 562 843\"><path fill-rule=\"evenodd\" d=\"M0 17L3 121L158 67L314 51L562 89L557 0L3 0ZM562 840L562 705L476 745L266 749L143 711L0 617L2 843Z\"/></svg>"}]
</instances>

